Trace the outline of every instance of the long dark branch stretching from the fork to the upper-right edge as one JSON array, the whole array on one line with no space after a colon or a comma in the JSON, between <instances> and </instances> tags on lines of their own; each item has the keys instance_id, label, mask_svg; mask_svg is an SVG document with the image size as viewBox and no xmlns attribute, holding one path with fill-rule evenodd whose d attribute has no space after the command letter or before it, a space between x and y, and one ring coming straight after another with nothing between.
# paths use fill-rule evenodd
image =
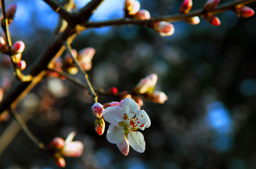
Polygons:
<instances>
[{"instance_id":1,"label":"long dark branch stretching from the fork to the upper-right edge","mask_svg":"<svg viewBox=\"0 0 256 169\"><path fill-rule=\"evenodd\" d=\"M256 0L238 0L230 3L225 3L218 5L214 10L208 11L209 13L221 13L224 11L228 11L234 8L234 6L242 4L250 4L252 2L255 2ZM116 19L116 20L107 20L107 21L101 21L101 22L87 22L82 24L82 26L86 28L95 28L95 27L101 27L101 26L113 26L113 25L124 25L124 24L135 24L140 26L148 26L153 22L157 21L166 21L166 22L173 22L177 20L183 20L185 18L191 18L195 16L202 17L204 15L204 10L199 9L195 11L190 11L187 14L172 14L172 15L165 15L165 16L156 16L152 17L149 20L139 20L139 19Z\"/></svg>"}]
</instances>

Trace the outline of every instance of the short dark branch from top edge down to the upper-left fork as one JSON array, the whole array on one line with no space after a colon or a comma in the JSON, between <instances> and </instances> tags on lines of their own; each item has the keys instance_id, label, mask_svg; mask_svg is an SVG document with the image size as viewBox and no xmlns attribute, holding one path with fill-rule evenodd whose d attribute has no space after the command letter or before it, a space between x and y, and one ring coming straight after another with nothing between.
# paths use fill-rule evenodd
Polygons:
<instances>
[{"instance_id":1,"label":"short dark branch from top edge down to the upper-left fork","mask_svg":"<svg viewBox=\"0 0 256 169\"><path fill-rule=\"evenodd\" d=\"M65 19L67 22L71 21L70 13L59 3L55 0L43 0L46 4L50 5L53 11L60 14L60 17Z\"/></svg>"}]
</instances>

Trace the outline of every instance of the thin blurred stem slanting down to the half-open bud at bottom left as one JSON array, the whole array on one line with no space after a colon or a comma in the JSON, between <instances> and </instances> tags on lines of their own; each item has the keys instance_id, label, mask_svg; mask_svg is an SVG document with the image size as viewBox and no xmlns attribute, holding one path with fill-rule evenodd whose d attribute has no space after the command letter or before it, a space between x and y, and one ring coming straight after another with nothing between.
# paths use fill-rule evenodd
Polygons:
<instances>
[{"instance_id":1,"label":"thin blurred stem slanting down to the half-open bud at bottom left","mask_svg":"<svg viewBox=\"0 0 256 169\"><path fill-rule=\"evenodd\" d=\"M28 126L25 121L21 118L20 114L15 109L9 109L15 120L19 123L23 131L27 134L27 136L42 150L46 151L46 147L44 143L40 142L35 135L28 129Z\"/></svg>"}]
</instances>

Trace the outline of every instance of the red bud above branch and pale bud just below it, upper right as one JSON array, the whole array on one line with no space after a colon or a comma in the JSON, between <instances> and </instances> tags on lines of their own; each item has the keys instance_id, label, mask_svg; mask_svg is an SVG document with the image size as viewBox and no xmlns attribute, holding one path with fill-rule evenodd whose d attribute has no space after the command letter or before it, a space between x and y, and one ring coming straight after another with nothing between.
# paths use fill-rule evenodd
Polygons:
<instances>
[{"instance_id":1,"label":"red bud above branch and pale bud just below it, upper right","mask_svg":"<svg viewBox=\"0 0 256 169\"><path fill-rule=\"evenodd\" d=\"M193 4L192 0L184 0L184 2L182 3L182 5L180 7L180 13L188 13L192 8L192 4ZM187 21L191 25L196 25L196 24L200 23L200 19L198 16L186 18L184 20Z\"/></svg>"}]
</instances>

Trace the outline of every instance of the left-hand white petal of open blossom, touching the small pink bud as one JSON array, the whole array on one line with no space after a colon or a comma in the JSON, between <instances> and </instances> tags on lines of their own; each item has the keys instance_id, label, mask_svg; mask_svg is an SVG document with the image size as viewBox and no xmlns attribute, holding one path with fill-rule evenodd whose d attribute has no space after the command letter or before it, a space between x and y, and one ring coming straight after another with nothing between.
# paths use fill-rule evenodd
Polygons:
<instances>
[{"instance_id":1,"label":"left-hand white petal of open blossom, touching the small pink bud","mask_svg":"<svg viewBox=\"0 0 256 169\"><path fill-rule=\"evenodd\" d=\"M102 114L104 120L109 123L119 123L120 121L124 121L124 111L119 106L107 107Z\"/></svg>"}]
</instances>

